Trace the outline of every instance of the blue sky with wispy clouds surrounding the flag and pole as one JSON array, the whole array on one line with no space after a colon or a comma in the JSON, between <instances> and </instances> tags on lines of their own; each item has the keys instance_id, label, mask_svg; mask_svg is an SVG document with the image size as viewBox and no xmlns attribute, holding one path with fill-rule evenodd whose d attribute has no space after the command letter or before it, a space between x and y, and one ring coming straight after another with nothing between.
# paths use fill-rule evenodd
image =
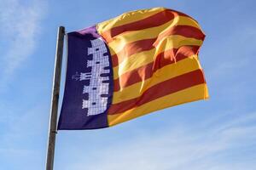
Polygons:
<instances>
[{"instance_id":1,"label":"blue sky with wispy clouds surrounding the flag and pole","mask_svg":"<svg viewBox=\"0 0 256 170\"><path fill-rule=\"evenodd\" d=\"M0 169L45 168L58 26L76 31L130 10L166 7L189 14L207 35L200 59L210 99L115 127L60 131L55 170L254 170L255 6L253 0L0 0ZM63 88L62 81L61 94Z\"/></svg>"}]
</instances>

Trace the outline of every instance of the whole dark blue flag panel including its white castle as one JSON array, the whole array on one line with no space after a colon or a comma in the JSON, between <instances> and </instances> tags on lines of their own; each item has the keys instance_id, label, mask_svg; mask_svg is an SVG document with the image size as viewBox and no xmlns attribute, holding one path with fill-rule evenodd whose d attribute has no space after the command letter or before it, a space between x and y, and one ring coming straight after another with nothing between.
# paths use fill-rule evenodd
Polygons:
<instances>
[{"instance_id":1,"label":"whole dark blue flag panel including its white castle","mask_svg":"<svg viewBox=\"0 0 256 170\"><path fill-rule=\"evenodd\" d=\"M95 27L67 34L67 75L58 129L108 127L113 70Z\"/></svg>"}]
</instances>

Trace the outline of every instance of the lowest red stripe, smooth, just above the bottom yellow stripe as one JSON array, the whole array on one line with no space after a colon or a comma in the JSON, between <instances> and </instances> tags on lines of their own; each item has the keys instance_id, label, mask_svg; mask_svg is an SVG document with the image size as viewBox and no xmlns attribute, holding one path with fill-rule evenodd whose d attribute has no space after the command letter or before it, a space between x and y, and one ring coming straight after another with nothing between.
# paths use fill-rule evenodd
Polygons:
<instances>
[{"instance_id":1,"label":"lowest red stripe, smooth, just above the bottom yellow stripe","mask_svg":"<svg viewBox=\"0 0 256 170\"><path fill-rule=\"evenodd\" d=\"M108 110L108 115L128 111L154 99L176 93L185 88L190 88L204 82L205 79L201 70L191 71L181 76L160 82L159 84L154 85L152 88L148 88L148 90L146 90L140 97L136 99L129 99L118 104L111 105Z\"/></svg>"}]
</instances>

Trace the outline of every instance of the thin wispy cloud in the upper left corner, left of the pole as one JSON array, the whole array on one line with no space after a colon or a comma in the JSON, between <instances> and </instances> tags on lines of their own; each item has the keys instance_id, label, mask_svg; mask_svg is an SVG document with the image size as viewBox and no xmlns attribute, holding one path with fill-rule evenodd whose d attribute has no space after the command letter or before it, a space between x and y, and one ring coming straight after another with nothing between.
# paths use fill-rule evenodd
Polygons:
<instances>
[{"instance_id":1,"label":"thin wispy cloud in the upper left corner, left of the pole","mask_svg":"<svg viewBox=\"0 0 256 170\"><path fill-rule=\"evenodd\" d=\"M9 81L15 71L25 65L26 59L36 48L41 30L40 21L45 14L45 3L19 0L2 0L0 4L1 82Z\"/></svg>"}]
</instances>

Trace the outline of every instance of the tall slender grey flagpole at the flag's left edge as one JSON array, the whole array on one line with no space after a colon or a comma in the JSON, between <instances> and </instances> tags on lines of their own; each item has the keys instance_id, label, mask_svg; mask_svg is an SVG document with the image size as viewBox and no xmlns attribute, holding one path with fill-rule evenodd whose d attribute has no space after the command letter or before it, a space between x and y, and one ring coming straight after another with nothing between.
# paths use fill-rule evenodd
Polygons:
<instances>
[{"instance_id":1,"label":"tall slender grey flagpole at the flag's left edge","mask_svg":"<svg viewBox=\"0 0 256 170\"><path fill-rule=\"evenodd\" d=\"M65 27L58 29L56 52L55 52L55 72L53 77L53 88L51 94L51 107L49 115L49 137L46 156L46 170L53 170L55 156L55 136L57 133L57 115L61 82L61 63L63 54L63 40L65 36Z\"/></svg>"}]
</instances>

